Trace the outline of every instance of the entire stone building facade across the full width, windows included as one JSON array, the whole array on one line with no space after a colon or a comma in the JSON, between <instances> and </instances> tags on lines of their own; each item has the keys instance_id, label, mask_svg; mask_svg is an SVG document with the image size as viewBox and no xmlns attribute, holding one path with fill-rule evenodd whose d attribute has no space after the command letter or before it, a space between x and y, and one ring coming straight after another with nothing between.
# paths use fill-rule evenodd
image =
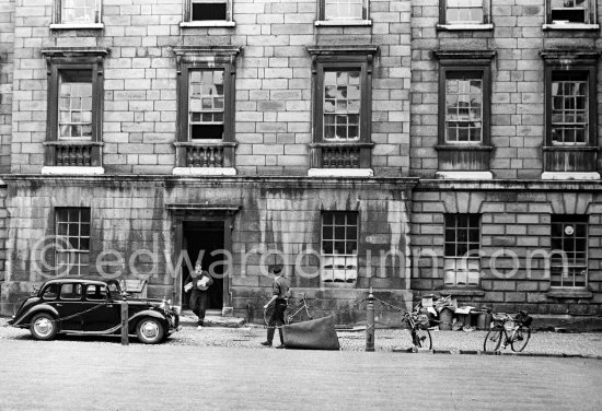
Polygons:
<instances>
[{"instance_id":1,"label":"entire stone building facade across the full width, windows included","mask_svg":"<svg viewBox=\"0 0 602 411\"><path fill-rule=\"evenodd\" d=\"M0 313L66 267L185 305L204 250L224 314L274 263L322 314L370 287L599 314L599 13L0 0Z\"/></svg>"}]
</instances>

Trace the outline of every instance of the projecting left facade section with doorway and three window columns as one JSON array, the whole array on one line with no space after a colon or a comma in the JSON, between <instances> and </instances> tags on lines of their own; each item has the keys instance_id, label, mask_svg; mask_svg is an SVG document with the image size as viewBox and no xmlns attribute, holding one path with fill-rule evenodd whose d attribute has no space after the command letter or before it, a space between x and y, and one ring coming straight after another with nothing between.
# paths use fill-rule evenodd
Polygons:
<instances>
[{"instance_id":1,"label":"projecting left facade section with doorway and three window columns","mask_svg":"<svg viewBox=\"0 0 602 411\"><path fill-rule=\"evenodd\" d=\"M273 263L324 313L412 302L409 1L83 3L14 2L2 313L68 263L186 304L200 249L223 313Z\"/></svg>"}]
</instances>

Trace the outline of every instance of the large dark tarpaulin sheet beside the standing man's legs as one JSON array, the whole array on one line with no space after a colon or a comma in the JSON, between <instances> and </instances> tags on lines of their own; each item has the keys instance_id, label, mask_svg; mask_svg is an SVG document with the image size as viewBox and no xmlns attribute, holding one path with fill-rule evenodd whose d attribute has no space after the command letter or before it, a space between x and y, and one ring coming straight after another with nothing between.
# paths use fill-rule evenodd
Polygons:
<instances>
[{"instance_id":1,"label":"large dark tarpaulin sheet beside the standing man's legs","mask_svg":"<svg viewBox=\"0 0 602 411\"><path fill-rule=\"evenodd\" d=\"M287 349L339 350L335 317L291 324L282 329Z\"/></svg>"}]
</instances>

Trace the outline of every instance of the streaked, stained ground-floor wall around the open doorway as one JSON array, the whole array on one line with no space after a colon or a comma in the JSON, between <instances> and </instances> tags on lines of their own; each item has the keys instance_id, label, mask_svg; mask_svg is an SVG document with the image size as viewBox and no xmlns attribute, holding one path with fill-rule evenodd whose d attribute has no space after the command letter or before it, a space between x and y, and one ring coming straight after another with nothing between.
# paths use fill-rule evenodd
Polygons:
<instances>
[{"instance_id":1,"label":"streaked, stained ground-floor wall around the open doorway","mask_svg":"<svg viewBox=\"0 0 602 411\"><path fill-rule=\"evenodd\" d=\"M93 183L94 181L94 183ZM114 256L101 257L100 267L117 278L132 278L130 257L141 249L157 250L157 260L143 256L134 260L140 273L154 270L148 293L171 295L174 278L169 267L177 260L173 215L167 204L242 206L232 231L233 307L245 316L247 305L257 308L269 295L271 279L261 272L261 263L283 263L296 291L315 298L316 312L328 313L367 295L368 287L384 292L383 297L398 304L412 300L407 293L409 260L408 189L406 181L323 181L309 179L207 179L182 183L178 179L11 179L10 254L7 281L2 284L2 313L46 278L48 255L40 253L45 236L54 235L56 207L90 207L92 230L90 273L97 274L96 260L102 251L114 250L124 259L118 267ZM379 187L375 190L374 187ZM328 286L320 277L301 275L297 257L309 248L321 250L321 211L349 210L360 215L359 272L357 284ZM278 250L280 256L270 255ZM397 257L384 255L396 251ZM51 251L51 250L50 250ZM381 254L382 251L382 254ZM262 261L262 256L265 255ZM403 257L401 257L403 256ZM51 256L50 256L51 257ZM283 258L283 260L282 260ZM299 258L308 273L319 272L316 258ZM120 273L118 271L121 271ZM12 309L12 308L11 308Z\"/></svg>"}]
</instances>

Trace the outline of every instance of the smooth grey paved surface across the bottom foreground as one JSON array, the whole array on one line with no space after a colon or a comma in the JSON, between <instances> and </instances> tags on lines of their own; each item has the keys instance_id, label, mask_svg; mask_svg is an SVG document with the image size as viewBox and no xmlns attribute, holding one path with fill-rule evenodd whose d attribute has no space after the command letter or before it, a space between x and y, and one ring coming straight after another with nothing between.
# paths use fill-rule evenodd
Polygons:
<instances>
[{"instance_id":1,"label":"smooth grey paved surface across the bottom foreground","mask_svg":"<svg viewBox=\"0 0 602 411\"><path fill-rule=\"evenodd\" d=\"M0 341L0 410L600 410L602 362Z\"/></svg>"}]
</instances>

